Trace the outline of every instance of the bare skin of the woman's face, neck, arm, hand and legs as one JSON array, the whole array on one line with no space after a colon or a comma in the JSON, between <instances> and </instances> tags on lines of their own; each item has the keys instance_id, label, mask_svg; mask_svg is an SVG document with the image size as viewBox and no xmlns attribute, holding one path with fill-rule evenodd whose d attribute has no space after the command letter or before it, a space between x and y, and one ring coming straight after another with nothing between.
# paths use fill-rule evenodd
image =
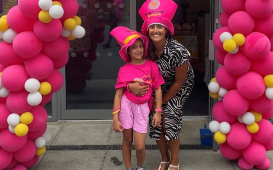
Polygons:
<instances>
[{"instance_id":1,"label":"bare skin of the woman's face, neck, arm, hand and legs","mask_svg":"<svg viewBox=\"0 0 273 170\"><path fill-rule=\"evenodd\" d=\"M163 51L165 42L166 42L166 33L167 29L163 25L160 24L152 24L149 26L149 36L156 48L156 55L160 57L161 52ZM182 65L175 67L175 81L171 85L170 89L162 96L162 101L164 103L167 103L171 98L173 98L177 92L181 89L181 87L184 84L184 80L186 78L186 73L187 73L187 68L188 68L188 62L183 63ZM135 95L144 95L146 93L147 86L146 85L141 85L138 82L135 83L130 83L129 84L129 89L132 91ZM179 144L180 144L180 139L174 139L174 140L165 140L165 119L164 119L164 114L162 118L162 124L163 124L163 130L161 131L160 139L156 140L162 161L168 162L170 161L170 164L177 166L179 164ZM168 152L168 146L170 148L170 155ZM167 164L163 163L161 166L161 170L165 169ZM156 166L154 170L157 170L159 167ZM172 170L178 169L175 167L171 167Z\"/></svg>"}]
</instances>

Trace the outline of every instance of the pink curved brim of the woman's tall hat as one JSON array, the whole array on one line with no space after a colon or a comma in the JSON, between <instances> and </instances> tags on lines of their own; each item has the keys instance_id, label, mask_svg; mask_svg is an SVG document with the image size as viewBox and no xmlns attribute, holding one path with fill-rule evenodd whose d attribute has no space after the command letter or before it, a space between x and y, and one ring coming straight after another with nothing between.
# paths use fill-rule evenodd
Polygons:
<instances>
[{"instance_id":1,"label":"pink curved brim of the woman's tall hat","mask_svg":"<svg viewBox=\"0 0 273 170\"><path fill-rule=\"evenodd\" d=\"M170 20L160 16L152 16L144 20L144 23L141 28L141 31L144 35L148 34L148 28L153 23L161 23L162 25L167 27L171 35L174 34L173 23Z\"/></svg>"}]
</instances>

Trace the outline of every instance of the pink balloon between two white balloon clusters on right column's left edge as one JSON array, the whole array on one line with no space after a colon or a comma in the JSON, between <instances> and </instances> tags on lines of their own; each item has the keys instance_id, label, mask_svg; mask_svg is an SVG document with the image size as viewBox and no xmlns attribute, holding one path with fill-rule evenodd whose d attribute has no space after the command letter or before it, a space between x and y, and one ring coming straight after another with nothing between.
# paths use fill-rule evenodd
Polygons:
<instances>
[{"instance_id":1,"label":"pink balloon between two white balloon clusters on right column's left edge","mask_svg":"<svg viewBox=\"0 0 273 170\"><path fill-rule=\"evenodd\" d=\"M219 123L225 121L229 124L232 124L237 121L237 116L228 114L223 107L223 100L216 102L212 107L212 115L214 120Z\"/></svg>"}]
</instances>

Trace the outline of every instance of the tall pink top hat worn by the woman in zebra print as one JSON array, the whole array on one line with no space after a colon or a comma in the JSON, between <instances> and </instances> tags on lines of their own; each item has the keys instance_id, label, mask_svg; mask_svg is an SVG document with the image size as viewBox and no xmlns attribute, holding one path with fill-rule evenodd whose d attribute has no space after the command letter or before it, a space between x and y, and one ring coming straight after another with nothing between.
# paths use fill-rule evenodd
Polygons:
<instances>
[{"instance_id":1,"label":"tall pink top hat worn by the woman in zebra print","mask_svg":"<svg viewBox=\"0 0 273 170\"><path fill-rule=\"evenodd\" d=\"M144 20L142 33L146 35L151 24L159 23L167 27L173 35L174 28L171 20L176 9L177 4L172 0L146 0L138 11Z\"/></svg>"}]
</instances>

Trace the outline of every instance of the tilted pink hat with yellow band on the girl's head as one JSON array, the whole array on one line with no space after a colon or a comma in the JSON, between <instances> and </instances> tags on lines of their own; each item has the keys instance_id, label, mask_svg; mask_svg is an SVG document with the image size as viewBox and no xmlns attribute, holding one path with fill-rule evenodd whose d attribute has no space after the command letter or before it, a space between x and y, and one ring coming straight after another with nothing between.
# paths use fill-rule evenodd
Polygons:
<instances>
[{"instance_id":1,"label":"tilted pink hat with yellow band on the girl's head","mask_svg":"<svg viewBox=\"0 0 273 170\"><path fill-rule=\"evenodd\" d=\"M131 30L125 26L118 26L118 27L115 27L110 32L110 34L117 39L119 45L121 46L119 54L125 62L130 61L130 58L127 55L127 48L128 46L133 45L137 38L140 38L144 43L143 57L147 56L149 40L146 36L142 35L141 33L135 30Z\"/></svg>"}]
</instances>

